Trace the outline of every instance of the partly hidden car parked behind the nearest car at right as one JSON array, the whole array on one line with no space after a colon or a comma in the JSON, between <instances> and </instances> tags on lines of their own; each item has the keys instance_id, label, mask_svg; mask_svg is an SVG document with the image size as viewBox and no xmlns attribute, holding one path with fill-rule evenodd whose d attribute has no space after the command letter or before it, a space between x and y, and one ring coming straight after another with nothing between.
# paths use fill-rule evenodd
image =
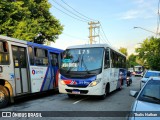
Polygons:
<instances>
[{"instance_id":1,"label":"partly hidden car parked behind the nearest car at right","mask_svg":"<svg viewBox=\"0 0 160 120\"><path fill-rule=\"evenodd\" d=\"M160 71L152 71L152 70L146 71L145 74L143 75L143 78L140 81L140 89L144 86L144 84L150 77L160 77Z\"/></svg>"}]
</instances>

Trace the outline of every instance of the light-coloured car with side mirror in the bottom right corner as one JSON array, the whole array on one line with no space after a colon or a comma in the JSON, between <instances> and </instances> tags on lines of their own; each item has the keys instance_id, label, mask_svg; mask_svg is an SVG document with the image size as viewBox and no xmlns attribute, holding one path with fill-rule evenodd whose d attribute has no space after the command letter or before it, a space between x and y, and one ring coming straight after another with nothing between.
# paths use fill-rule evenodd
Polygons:
<instances>
[{"instance_id":1,"label":"light-coloured car with side mirror in the bottom right corner","mask_svg":"<svg viewBox=\"0 0 160 120\"><path fill-rule=\"evenodd\" d=\"M130 91L135 97L128 120L160 120L160 77L150 77L143 88Z\"/></svg>"}]
</instances>

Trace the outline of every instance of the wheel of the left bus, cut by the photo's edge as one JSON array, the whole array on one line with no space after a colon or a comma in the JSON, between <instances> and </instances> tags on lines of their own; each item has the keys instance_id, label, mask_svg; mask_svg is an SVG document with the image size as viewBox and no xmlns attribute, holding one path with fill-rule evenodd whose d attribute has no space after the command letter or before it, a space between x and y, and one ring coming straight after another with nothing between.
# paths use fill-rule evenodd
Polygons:
<instances>
[{"instance_id":1,"label":"wheel of the left bus, cut by the photo's edge","mask_svg":"<svg viewBox=\"0 0 160 120\"><path fill-rule=\"evenodd\" d=\"M9 102L9 93L8 90L0 85L0 108L5 107Z\"/></svg>"}]
</instances>

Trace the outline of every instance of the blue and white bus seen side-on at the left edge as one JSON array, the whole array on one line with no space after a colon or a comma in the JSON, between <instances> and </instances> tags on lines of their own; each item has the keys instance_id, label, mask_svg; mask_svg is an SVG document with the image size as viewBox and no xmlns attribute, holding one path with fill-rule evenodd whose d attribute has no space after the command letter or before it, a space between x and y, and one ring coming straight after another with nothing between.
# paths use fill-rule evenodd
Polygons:
<instances>
[{"instance_id":1,"label":"blue and white bus seen side-on at the left edge","mask_svg":"<svg viewBox=\"0 0 160 120\"><path fill-rule=\"evenodd\" d=\"M0 107L18 96L56 89L61 52L0 35Z\"/></svg>"}]
</instances>

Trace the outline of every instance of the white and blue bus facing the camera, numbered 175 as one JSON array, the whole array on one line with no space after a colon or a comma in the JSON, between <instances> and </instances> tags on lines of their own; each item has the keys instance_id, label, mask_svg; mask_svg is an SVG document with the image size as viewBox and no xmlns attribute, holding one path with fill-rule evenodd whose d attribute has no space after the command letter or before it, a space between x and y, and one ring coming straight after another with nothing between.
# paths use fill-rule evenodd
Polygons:
<instances>
[{"instance_id":1,"label":"white and blue bus facing the camera, numbered 175","mask_svg":"<svg viewBox=\"0 0 160 120\"><path fill-rule=\"evenodd\" d=\"M104 99L109 92L121 89L125 68L125 55L107 44L68 47L60 67L59 92Z\"/></svg>"}]
</instances>

